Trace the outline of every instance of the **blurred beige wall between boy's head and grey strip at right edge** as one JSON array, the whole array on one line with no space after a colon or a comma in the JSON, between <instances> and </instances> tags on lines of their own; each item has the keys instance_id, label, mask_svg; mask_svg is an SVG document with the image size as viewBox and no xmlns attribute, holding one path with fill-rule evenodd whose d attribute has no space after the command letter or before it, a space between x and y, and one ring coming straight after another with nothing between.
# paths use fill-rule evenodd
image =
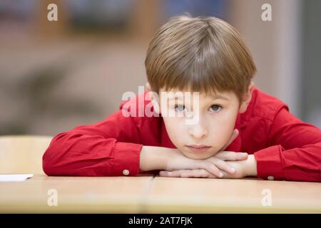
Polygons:
<instances>
[{"instance_id":1,"label":"blurred beige wall between boy's head and grey strip at right edge","mask_svg":"<svg viewBox=\"0 0 321 228\"><path fill-rule=\"evenodd\" d=\"M243 34L258 67L254 82L300 113L301 1L230 1L232 24ZM263 21L261 6L272 6L272 21Z\"/></svg>"}]
</instances>

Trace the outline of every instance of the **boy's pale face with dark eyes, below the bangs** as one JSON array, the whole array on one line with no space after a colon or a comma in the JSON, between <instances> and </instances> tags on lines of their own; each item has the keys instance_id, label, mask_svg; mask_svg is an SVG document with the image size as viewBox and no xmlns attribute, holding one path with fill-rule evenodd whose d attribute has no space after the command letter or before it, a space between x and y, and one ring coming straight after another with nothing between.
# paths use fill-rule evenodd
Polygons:
<instances>
[{"instance_id":1,"label":"boy's pale face with dark eyes, below the bangs","mask_svg":"<svg viewBox=\"0 0 321 228\"><path fill-rule=\"evenodd\" d=\"M214 97L205 93L190 93L187 98L170 99L164 98L161 93L176 93L177 90L161 90L160 113L170 140L186 157L206 159L215 155L230 139L238 113L246 110L252 89L249 88L249 91L250 96L240 105L233 92L215 93ZM175 116L168 115L170 111L175 112ZM191 118L195 120L193 124L186 121Z\"/></svg>"}]
</instances>

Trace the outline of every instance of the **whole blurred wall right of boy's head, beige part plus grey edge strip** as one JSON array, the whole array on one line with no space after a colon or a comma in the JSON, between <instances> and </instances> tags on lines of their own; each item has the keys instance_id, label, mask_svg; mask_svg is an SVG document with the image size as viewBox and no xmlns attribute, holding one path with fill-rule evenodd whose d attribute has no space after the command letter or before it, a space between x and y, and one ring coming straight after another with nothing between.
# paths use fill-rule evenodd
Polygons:
<instances>
[{"instance_id":1,"label":"whole blurred wall right of boy's head, beige part plus grey edge strip","mask_svg":"<svg viewBox=\"0 0 321 228\"><path fill-rule=\"evenodd\" d=\"M272 6L272 21L260 19ZM258 73L256 85L321 128L321 14L317 0L230 1L230 22L245 37Z\"/></svg>"}]
</instances>

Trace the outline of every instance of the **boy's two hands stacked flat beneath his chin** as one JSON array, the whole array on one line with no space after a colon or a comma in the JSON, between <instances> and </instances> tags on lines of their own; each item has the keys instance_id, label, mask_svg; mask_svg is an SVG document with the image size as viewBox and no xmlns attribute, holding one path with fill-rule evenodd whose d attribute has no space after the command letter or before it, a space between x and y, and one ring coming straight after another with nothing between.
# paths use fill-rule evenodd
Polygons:
<instances>
[{"instance_id":1,"label":"boy's two hands stacked flat beneath his chin","mask_svg":"<svg viewBox=\"0 0 321 228\"><path fill-rule=\"evenodd\" d=\"M238 136L238 130L233 131L233 135L231 136L228 143L223 147L225 149L230 145L231 142ZM230 151L222 151L218 152L217 155L213 157L209 157L206 160L193 160L188 157L182 155L179 151L173 152L169 159L168 163L165 167L167 171L173 172L160 172L160 175L180 175L181 172L188 172L188 175L191 173L195 173L195 175L208 175L208 177L223 177L224 174L233 174L235 173L235 169L228 165L226 160L246 160L248 157L247 153L240 152L230 152ZM182 170L204 170L204 171L182 171ZM223 172L222 172L223 171ZM203 176L202 176L203 177Z\"/></svg>"}]
</instances>

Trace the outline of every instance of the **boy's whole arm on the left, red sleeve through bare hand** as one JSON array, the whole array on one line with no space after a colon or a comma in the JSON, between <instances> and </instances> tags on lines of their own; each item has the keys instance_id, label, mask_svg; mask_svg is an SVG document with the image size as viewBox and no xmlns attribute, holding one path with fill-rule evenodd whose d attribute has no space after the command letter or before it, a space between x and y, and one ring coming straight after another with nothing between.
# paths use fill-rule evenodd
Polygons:
<instances>
[{"instance_id":1,"label":"boy's whole arm on the left, red sleeve through bare hand","mask_svg":"<svg viewBox=\"0 0 321 228\"><path fill-rule=\"evenodd\" d=\"M121 111L93 125L82 125L56 135L43 157L47 175L135 176L153 170L205 169L218 176L230 170L223 161L193 160L178 149L143 146L133 118ZM230 159L243 156L230 154ZM153 172L152 172L153 173Z\"/></svg>"}]
</instances>

